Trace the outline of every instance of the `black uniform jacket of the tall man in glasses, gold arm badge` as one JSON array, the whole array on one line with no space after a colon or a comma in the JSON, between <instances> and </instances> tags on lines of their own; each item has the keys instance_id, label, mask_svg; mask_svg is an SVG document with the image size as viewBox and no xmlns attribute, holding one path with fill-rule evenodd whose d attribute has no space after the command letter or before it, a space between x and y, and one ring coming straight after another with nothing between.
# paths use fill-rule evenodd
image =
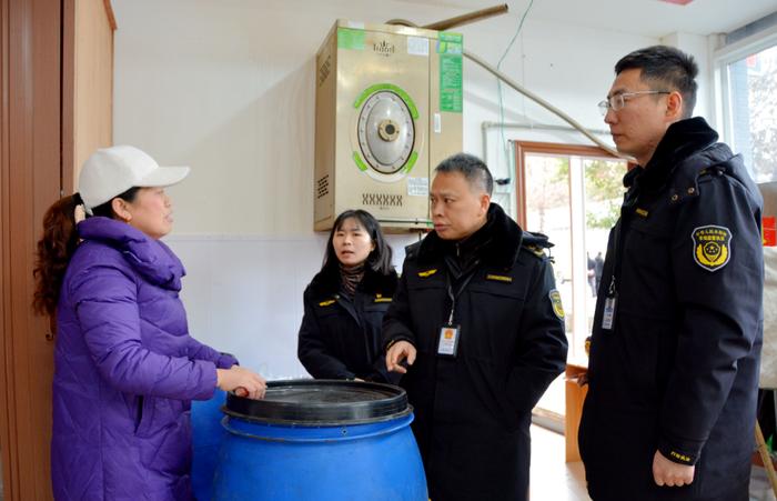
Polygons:
<instances>
[{"instance_id":1,"label":"black uniform jacket of the tall man in glasses, gold arm badge","mask_svg":"<svg viewBox=\"0 0 777 501\"><path fill-rule=\"evenodd\" d=\"M700 118L674 123L647 168L624 178L579 430L595 500L747 500L763 339L761 198L740 157L716 140ZM614 328L605 330L614 293ZM696 464L694 482L657 487L656 450Z\"/></svg>"}]
</instances>

